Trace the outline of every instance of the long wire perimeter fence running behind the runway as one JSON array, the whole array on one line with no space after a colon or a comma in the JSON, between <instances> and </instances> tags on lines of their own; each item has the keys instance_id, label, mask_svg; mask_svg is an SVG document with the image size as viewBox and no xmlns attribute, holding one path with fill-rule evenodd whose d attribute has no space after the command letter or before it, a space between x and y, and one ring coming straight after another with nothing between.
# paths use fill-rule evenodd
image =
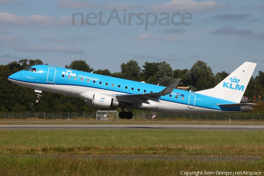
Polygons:
<instances>
[{"instance_id":1,"label":"long wire perimeter fence running behind the runway","mask_svg":"<svg viewBox=\"0 0 264 176\"><path fill-rule=\"evenodd\" d=\"M65 119L65 120L105 120L122 121L125 119L116 118L116 112L108 113L107 116L97 114L96 112L1 112L0 119ZM142 121L151 120L153 113L150 111L142 111L141 113L133 113L133 120ZM216 113L216 114L166 114L156 113L154 120L161 121L262 121L263 114L260 113Z\"/></svg>"}]
</instances>

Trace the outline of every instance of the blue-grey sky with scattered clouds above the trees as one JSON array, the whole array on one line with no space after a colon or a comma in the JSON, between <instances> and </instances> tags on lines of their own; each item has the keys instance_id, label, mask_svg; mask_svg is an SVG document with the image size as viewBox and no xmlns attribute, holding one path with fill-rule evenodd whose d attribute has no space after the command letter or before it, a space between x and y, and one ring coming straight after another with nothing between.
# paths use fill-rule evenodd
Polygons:
<instances>
[{"instance_id":1,"label":"blue-grey sky with scattered clouds above the trees","mask_svg":"<svg viewBox=\"0 0 264 176\"><path fill-rule=\"evenodd\" d=\"M244 62L264 71L263 1L0 0L0 65L40 59L65 67L74 60L110 72L136 60L213 73Z\"/></svg>"}]
</instances>

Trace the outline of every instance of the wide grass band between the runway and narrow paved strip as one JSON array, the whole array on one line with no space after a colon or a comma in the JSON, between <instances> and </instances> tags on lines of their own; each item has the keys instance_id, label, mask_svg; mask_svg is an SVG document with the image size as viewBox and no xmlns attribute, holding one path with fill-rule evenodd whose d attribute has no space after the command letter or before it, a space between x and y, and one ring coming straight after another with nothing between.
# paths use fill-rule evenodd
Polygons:
<instances>
[{"instance_id":1,"label":"wide grass band between the runway and narrow paved strip","mask_svg":"<svg viewBox=\"0 0 264 176\"><path fill-rule=\"evenodd\" d=\"M0 131L0 155L264 156L261 131Z\"/></svg>"}]
</instances>

